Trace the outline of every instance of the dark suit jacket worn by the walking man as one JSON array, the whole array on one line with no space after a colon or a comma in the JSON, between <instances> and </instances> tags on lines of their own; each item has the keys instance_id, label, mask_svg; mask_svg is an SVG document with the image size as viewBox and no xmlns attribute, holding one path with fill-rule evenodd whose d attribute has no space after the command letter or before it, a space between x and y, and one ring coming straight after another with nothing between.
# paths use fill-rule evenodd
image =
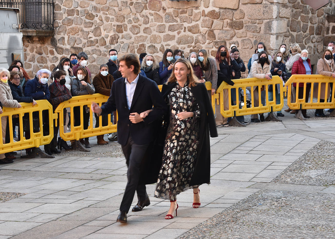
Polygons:
<instances>
[{"instance_id":1,"label":"dark suit jacket worn by the walking man","mask_svg":"<svg viewBox=\"0 0 335 239\"><path fill-rule=\"evenodd\" d=\"M144 121L137 124L130 122L130 113L140 114L152 109L152 105L154 108L144 118ZM162 118L166 113L167 106L157 84L140 75L130 109L127 104L125 78L119 78L113 82L111 95L101 109L102 114L110 114L118 110L118 142L121 145L126 145L129 134L135 144L144 145L155 140L156 129L151 123Z\"/></svg>"}]
</instances>

